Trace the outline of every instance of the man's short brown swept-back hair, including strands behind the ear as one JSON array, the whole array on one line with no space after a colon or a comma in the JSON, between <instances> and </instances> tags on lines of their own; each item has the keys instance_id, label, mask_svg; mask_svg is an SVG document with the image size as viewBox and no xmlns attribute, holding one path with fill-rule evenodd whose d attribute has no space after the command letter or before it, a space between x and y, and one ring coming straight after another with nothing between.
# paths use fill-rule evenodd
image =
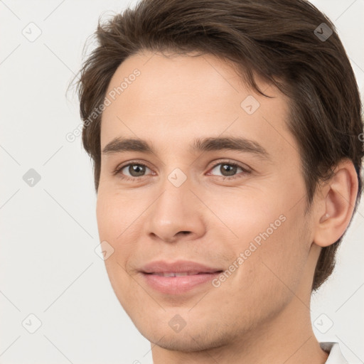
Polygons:
<instances>
[{"instance_id":1,"label":"man's short brown swept-back hair, including strands behind the ear","mask_svg":"<svg viewBox=\"0 0 364 364\"><path fill-rule=\"evenodd\" d=\"M98 46L85 60L77 87L82 142L94 163L96 191L102 114L93 112L103 104L119 65L143 50L198 51L232 61L260 94L267 96L255 74L289 97L288 127L299 145L307 206L319 181L330 178L339 161L353 161L359 180L355 213L363 184L358 85L335 26L308 1L142 0L105 23L99 20L95 35ZM313 290L333 271L341 239L321 250Z\"/></svg>"}]
</instances>

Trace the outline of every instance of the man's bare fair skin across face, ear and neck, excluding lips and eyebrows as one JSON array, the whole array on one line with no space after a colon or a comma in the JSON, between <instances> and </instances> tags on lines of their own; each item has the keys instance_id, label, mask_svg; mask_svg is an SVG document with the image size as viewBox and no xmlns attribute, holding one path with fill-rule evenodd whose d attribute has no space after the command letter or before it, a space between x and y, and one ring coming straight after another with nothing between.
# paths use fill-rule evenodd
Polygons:
<instances>
[{"instance_id":1,"label":"man's bare fair skin across face, ear and neck, excluding lips and eyebrows","mask_svg":"<svg viewBox=\"0 0 364 364\"><path fill-rule=\"evenodd\" d=\"M325 363L311 328L311 284L321 247L343 234L353 214L353 164L338 165L304 215L298 146L286 126L289 100L279 90L257 79L273 97L255 93L213 55L145 51L119 66L108 92L135 68L139 77L102 114L101 149L115 137L131 137L148 141L155 153L102 154L97 223L100 241L114 249L105 260L114 292L152 343L154 364ZM240 107L248 95L260 104L251 115ZM269 159L188 151L196 138L237 136L257 141ZM127 181L122 176L133 176L132 161L147 168ZM220 168L228 161L250 173L237 168L237 178L228 179ZM121 166L127 167L114 175ZM175 168L187 178L179 187L168 180ZM167 295L139 273L156 259L228 269L280 215L284 223L220 287ZM176 314L186 322L178 333L168 325Z\"/></svg>"}]
</instances>

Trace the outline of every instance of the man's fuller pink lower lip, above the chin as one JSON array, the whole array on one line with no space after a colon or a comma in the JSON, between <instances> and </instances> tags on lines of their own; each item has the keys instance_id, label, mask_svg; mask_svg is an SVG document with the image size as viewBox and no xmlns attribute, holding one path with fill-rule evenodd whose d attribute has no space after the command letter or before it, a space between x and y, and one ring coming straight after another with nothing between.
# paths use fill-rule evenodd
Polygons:
<instances>
[{"instance_id":1,"label":"man's fuller pink lower lip, above the chin","mask_svg":"<svg viewBox=\"0 0 364 364\"><path fill-rule=\"evenodd\" d=\"M194 287L200 286L200 284L211 282L215 277L218 277L220 272L179 277L161 277L156 274L141 274L144 276L147 284L157 291L164 294L181 294Z\"/></svg>"}]
</instances>

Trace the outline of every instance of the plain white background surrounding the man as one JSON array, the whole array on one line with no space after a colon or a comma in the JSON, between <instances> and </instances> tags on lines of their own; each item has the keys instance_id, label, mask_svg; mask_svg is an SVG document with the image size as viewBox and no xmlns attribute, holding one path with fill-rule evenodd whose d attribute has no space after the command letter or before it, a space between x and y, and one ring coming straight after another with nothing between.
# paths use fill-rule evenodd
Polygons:
<instances>
[{"instance_id":1,"label":"plain white background surrounding the man","mask_svg":"<svg viewBox=\"0 0 364 364\"><path fill-rule=\"evenodd\" d=\"M336 25L363 95L364 1L312 2ZM100 15L129 4L135 1L0 1L2 364L151 363L149 342L124 313L95 253L90 159L80 137L65 139L80 124L77 97L66 89L82 47ZM34 36L37 27L41 35L28 41L23 29ZM30 168L41 176L33 187L23 181ZM361 203L336 271L312 300L319 341L338 341L355 364L364 360L363 232ZM35 333L24 327L36 327L29 314L41 321Z\"/></svg>"}]
</instances>

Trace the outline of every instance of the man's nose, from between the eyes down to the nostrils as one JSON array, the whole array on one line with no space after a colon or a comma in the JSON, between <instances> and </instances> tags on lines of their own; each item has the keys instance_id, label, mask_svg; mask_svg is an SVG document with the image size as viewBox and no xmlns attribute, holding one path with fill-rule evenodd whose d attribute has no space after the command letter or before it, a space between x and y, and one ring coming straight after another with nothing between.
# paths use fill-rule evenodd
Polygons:
<instances>
[{"instance_id":1,"label":"man's nose, from between the eyes down to the nostrils","mask_svg":"<svg viewBox=\"0 0 364 364\"><path fill-rule=\"evenodd\" d=\"M194 240L205 233L203 203L185 181L176 187L166 179L159 197L151 205L144 228L152 239L164 242Z\"/></svg>"}]
</instances>

